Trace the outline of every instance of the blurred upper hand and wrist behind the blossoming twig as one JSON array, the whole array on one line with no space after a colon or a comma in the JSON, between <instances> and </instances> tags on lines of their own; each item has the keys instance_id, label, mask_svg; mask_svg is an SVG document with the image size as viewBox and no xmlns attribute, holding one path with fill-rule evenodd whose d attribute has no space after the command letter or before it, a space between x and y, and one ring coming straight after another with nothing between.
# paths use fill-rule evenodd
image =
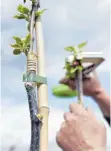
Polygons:
<instances>
[{"instance_id":1,"label":"blurred upper hand and wrist behind the blossoming twig","mask_svg":"<svg viewBox=\"0 0 111 151\"><path fill-rule=\"evenodd\" d=\"M76 89L74 79L63 78L60 83L68 85L73 90ZM102 88L96 75L93 74L93 76L87 76L83 79L83 93L96 101L105 116L110 115L110 97Z\"/></svg>"}]
</instances>

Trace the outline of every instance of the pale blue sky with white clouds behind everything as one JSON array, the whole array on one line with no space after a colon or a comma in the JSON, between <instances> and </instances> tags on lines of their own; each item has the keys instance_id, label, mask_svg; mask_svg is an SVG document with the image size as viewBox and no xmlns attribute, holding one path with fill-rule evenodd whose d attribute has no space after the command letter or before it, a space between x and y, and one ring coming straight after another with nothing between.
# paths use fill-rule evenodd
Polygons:
<instances>
[{"instance_id":1,"label":"pale blue sky with white clouds behind everything","mask_svg":"<svg viewBox=\"0 0 111 151\"><path fill-rule=\"evenodd\" d=\"M16 7L22 0L3 0L1 3L1 113L2 150L11 146L28 150L30 144L30 119L22 74L26 70L26 58L14 56L10 47L13 36L24 37L25 21L13 19ZM41 0L41 8L48 8L42 16L48 79L49 151L60 151L55 142L56 132L63 121L63 113L77 98L60 99L51 89L64 77L64 59L68 55L64 47L88 41L86 51L102 51L106 59L97 73L102 86L110 94L110 8L109 0ZM100 112L91 98L84 97L85 106ZM53 118L54 117L54 118Z\"/></svg>"}]
</instances>

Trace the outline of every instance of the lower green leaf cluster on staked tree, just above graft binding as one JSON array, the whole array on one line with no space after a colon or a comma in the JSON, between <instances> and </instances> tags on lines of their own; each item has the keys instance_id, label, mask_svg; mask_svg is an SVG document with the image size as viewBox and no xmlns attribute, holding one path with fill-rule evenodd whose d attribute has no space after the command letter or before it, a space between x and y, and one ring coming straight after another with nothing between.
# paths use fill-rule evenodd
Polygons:
<instances>
[{"instance_id":1,"label":"lower green leaf cluster on staked tree, just above graft binding","mask_svg":"<svg viewBox=\"0 0 111 151\"><path fill-rule=\"evenodd\" d=\"M30 34L28 34L25 38L21 39L19 37L13 37L15 40L15 44L12 44L11 47L14 48L13 54L19 55L21 52L25 53L27 55L27 52L30 47Z\"/></svg>"}]
</instances>

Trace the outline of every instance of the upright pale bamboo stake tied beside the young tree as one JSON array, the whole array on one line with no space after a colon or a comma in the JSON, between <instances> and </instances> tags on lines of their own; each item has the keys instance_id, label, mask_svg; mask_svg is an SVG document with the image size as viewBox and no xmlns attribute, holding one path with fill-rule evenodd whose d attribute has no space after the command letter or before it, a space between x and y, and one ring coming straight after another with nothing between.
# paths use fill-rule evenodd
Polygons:
<instances>
[{"instance_id":1,"label":"upright pale bamboo stake tied beside the young tree","mask_svg":"<svg viewBox=\"0 0 111 151\"><path fill-rule=\"evenodd\" d=\"M45 77L45 54L42 34L41 17L36 19L36 49L37 49L37 74ZM48 87L47 84L37 86L39 114L43 116L40 129L40 151L48 151Z\"/></svg>"}]
</instances>

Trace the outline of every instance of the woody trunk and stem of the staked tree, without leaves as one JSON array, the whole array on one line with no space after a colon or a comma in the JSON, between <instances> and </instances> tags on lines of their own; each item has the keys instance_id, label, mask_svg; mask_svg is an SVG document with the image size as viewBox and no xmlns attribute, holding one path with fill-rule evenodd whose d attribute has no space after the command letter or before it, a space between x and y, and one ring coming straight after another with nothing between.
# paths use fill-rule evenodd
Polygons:
<instances>
[{"instance_id":1,"label":"woody trunk and stem of the staked tree, without leaves","mask_svg":"<svg viewBox=\"0 0 111 151\"><path fill-rule=\"evenodd\" d=\"M31 20L30 20L30 52L33 53L33 45L34 45L34 25L35 25L35 11L36 11L36 3L32 3L32 11L31 11ZM27 62L29 61L27 55ZM27 69L27 74L36 74L36 66L34 60L31 59L31 64ZM35 71L32 71L32 64L35 66ZM28 65L27 65L28 66ZM30 118L31 118L31 144L30 151L39 151L39 141L40 141L40 120L38 119L38 107L36 101L36 83L26 82L25 87L28 95L29 102L29 110L30 110Z\"/></svg>"}]
</instances>

